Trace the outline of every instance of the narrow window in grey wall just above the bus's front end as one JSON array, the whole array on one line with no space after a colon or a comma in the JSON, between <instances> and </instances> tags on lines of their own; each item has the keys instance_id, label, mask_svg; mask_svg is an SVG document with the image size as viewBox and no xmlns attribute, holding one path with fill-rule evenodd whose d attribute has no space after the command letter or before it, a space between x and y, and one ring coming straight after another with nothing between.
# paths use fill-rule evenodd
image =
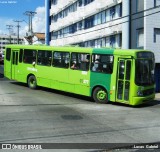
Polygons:
<instances>
[{"instance_id":1,"label":"narrow window in grey wall just above the bus's front end","mask_svg":"<svg viewBox=\"0 0 160 152\"><path fill-rule=\"evenodd\" d=\"M140 28L136 30L137 33L137 48L144 47L144 29Z\"/></svg>"}]
</instances>

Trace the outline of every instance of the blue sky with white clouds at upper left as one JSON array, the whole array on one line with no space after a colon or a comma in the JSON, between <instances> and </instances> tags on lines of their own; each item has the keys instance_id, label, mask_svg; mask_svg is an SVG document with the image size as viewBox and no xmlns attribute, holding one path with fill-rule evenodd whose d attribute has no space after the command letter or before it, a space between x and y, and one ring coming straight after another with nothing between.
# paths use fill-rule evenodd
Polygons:
<instances>
[{"instance_id":1,"label":"blue sky with white clouds at upper left","mask_svg":"<svg viewBox=\"0 0 160 152\"><path fill-rule=\"evenodd\" d=\"M0 0L0 34L9 35L7 25L13 26L13 33L17 35L17 23L20 22L19 34L25 36L28 31L28 16L26 11L37 14L33 17L33 32L45 32L45 0Z\"/></svg>"}]
</instances>

